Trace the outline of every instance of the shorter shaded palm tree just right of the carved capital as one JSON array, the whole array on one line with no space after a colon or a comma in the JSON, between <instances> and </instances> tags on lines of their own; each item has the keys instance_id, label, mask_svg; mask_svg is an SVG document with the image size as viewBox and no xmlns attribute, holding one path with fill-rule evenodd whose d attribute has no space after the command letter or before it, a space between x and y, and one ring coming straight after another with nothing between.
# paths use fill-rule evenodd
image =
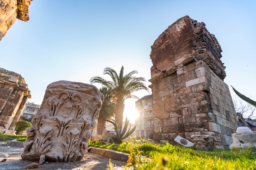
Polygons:
<instances>
[{"instance_id":1,"label":"shorter shaded palm tree just right of the carved capital","mask_svg":"<svg viewBox=\"0 0 256 170\"><path fill-rule=\"evenodd\" d=\"M106 129L106 119L114 116L114 102L112 92L106 87L101 87L100 92L104 94L104 101L98 117L97 134L102 134Z\"/></svg>"}]
</instances>

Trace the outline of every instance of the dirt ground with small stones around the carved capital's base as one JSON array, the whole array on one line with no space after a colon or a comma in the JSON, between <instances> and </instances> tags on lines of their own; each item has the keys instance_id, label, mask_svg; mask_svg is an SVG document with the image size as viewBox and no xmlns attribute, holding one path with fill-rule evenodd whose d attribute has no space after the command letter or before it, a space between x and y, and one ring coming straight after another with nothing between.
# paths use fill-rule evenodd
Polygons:
<instances>
[{"instance_id":1,"label":"dirt ground with small stones around the carved capital's base","mask_svg":"<svg viewBox=\"0 0 256 170\"><path fill-rule=\"evenodd\" d=\"M21 159L23 148L6 146L4 142L0 142L0 170L26 170L26 167L33 163ZM111 160L114 170L123 170L122 166L126 165L126 161ZM38 163L38 162L36 162ZM101 157L98 154L87 153L81 161L74 162L45 162L33 170L109 170L107 167L109 158Z\"/></svg>"}]
</instances>

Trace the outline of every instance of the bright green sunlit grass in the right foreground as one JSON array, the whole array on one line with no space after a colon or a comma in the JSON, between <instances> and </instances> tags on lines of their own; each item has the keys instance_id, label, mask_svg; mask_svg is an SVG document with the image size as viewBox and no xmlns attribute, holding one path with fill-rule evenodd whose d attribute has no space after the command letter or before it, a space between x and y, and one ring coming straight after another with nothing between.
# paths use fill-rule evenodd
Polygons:
<instances>
[{"instance_id":1,"label":"bright green sunlit grass in the right foreground","mask_svg":"<svg viewBox=\"0 0 256 170\"><path fill-rule=\"evenodd\" d=\"M153 143L123 142L120 145L100 141L90 141L90 146L127 152L137 148L142 155L150 157L151 162L142 163L135 170L254 170L256 153L245 149L213 149L200 151L194 148ZM133 151L132 151L133 152Z\"/></svg>"}]
</instances>

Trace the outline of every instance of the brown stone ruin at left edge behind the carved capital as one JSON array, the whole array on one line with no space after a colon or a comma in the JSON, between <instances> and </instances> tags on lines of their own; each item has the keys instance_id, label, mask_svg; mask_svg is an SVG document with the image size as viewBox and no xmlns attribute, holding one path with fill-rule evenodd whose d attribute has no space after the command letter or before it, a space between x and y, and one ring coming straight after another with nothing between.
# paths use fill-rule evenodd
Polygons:
<instances>
[{"instance_id":1,"label":"brown stone ruin at left edge behind the carved capital","mask_svg":"<svg viewBox=\"0 0 256 170\"><path fill-rule=\"evenodd\" d=\"M0 68L0 126L14 130L28 98L31 95L24 78Z\"/></svg>"}]
</instances>

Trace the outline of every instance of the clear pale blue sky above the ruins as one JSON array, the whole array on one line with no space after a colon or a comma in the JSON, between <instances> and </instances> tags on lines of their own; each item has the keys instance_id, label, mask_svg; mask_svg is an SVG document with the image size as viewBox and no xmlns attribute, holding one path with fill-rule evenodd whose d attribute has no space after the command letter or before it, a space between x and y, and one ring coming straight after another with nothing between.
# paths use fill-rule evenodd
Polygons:
<instances>
[{"instance_id":1,"label":"clear pale blue sky above the ruins","mask_svg":"<svg viewBox=\"0 0 256 170\"><path fill-rule=\"evenodd\" d=\"M0 41L0 67L21 74L31 90L29 101L37 104L48 84L89 83L105 67L119 71L123 65L125 73L136 69L149 80L151 45L188 15L219 41L224 82L256 99L255 9L255 0L33 0L30 20L16 20ZM126 102L126 114L135 101Z\"/></svg>"}]
</instances>

